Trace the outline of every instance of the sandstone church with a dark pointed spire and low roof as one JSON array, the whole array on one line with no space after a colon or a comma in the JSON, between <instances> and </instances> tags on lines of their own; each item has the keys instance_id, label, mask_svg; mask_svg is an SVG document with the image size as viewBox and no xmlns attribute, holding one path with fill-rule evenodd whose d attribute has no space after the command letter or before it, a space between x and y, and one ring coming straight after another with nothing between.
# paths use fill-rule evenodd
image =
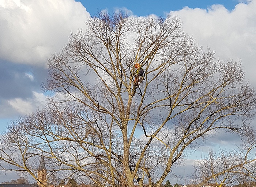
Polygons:
<instances>
[{"instance_id":1,"label":"sandstone church with a dark pointed spire and low roof","mask_svg":"<svg viewBox=\"0 0 256 187\"><path fill-rule=\"evenodd\" d=\"M44 155L42 154L37 171L37 179L39 180L37 184L0 184L0 187L45 187L47 186L46 174L47 170L45 167Z\"/></svg>"}]
</instances>

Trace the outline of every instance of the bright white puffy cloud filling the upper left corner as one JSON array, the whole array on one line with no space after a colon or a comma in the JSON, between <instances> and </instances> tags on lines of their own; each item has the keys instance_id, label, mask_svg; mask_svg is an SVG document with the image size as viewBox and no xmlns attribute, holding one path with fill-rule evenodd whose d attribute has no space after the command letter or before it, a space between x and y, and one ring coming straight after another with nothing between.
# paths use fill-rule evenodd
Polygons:
<instances>
[{"instance_id":1,"label":"bright white puffy cloud filling the upper left corner","mask_svg":"<svg viewBox=\"0 0 256 187\"><path fill-rule=\"evenodd\" d=\"M46 65L89 16L74 0L0 0L0 58Z\"/></svg>"}]
</instances>

